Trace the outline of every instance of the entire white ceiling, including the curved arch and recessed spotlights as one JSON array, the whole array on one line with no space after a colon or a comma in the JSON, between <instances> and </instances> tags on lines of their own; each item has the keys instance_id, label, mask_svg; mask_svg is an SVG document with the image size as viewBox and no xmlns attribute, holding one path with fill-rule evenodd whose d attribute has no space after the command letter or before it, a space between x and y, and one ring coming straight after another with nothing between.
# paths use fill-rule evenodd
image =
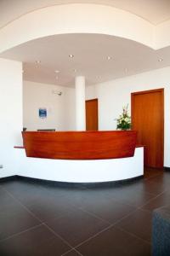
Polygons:
<instances>
[{"instance_id":1,"label":"entire white ceiling, including the curved arch and recessed spotlights","mask_svg":"<svg viewBox=\"0 0 170 256\"><path fill-rule=\"evenodd\" d=\"M84 75L99 84L170 66L169 19L170 0L0 0L0 57L23 61L26 80L73 86Z\"/></svg>"}]
</instances>

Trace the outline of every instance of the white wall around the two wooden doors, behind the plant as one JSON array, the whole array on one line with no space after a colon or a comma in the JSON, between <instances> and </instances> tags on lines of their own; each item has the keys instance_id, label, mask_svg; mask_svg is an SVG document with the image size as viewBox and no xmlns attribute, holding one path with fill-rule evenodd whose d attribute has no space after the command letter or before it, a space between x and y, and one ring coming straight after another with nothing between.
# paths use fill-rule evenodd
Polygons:
<instances>
[{"instance_id":1,"label":"white wall around the two wooden doors, behind the plant","mask_svg":"<svg viewBox=\"0 0 170 256\"><path fill-rule=\"evenodd\" d=\"M95 85L95 96L99 98L99 130L115 130L115 119L127 103L130 113L132 92L158 88L164 88L165 93L164 166L170 166L170 67ZM88 98L90 91L94 97L94 90L88 89Z\"/></svg>"}]
</instances>

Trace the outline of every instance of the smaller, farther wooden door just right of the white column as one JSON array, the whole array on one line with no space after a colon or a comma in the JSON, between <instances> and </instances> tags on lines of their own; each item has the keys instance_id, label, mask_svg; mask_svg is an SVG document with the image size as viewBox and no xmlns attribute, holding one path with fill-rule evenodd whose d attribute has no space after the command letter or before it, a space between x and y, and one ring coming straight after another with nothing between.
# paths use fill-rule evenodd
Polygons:
<instances>
[{"instance_id":1,"label":"smaller, farther wooden door just right of the white column","mask_svg":"<svg viewBox=\"0 0 170 256\"><path fill-rule=\"evenodd\" d=\"M98 131L98 99L86 101L86 131Z\"/></svg>"}]
</instances>

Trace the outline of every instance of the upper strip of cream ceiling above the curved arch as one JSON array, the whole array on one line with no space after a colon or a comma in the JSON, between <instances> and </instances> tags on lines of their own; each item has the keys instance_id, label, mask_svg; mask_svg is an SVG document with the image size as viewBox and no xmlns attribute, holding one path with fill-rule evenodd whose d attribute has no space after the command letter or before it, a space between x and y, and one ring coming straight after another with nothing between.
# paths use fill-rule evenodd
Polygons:
<instances>
[{"instance_id":1,"label":"upper strip of cream ceiling above the curved arch","mask_svg":"<svg viewBox=\"0 0 170 256\"><path fill-rule=\"evenodd\" d=\"M138 15L154 25L170 20L170 0L0 0L0 27L33 10L66 3L111 5Z\"/></svg>"}]
</instances>

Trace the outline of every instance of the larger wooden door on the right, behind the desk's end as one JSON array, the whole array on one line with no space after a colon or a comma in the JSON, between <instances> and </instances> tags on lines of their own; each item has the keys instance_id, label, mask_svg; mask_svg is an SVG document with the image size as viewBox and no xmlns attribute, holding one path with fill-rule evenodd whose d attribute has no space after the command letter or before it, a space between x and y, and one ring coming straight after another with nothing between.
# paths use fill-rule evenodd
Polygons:
<instances>
[{"instance_id":1,"label":"larger wooden door on the right, behind the desk's end","mask_svg":"<svg viewBox=\"0 0 170 256\"><path fill-rule=\"evenodd\" d=\"M132 125L137 143L144 145L144 166L163 167L164 90L132 93Z\"/></svg>"}]
</instances>

